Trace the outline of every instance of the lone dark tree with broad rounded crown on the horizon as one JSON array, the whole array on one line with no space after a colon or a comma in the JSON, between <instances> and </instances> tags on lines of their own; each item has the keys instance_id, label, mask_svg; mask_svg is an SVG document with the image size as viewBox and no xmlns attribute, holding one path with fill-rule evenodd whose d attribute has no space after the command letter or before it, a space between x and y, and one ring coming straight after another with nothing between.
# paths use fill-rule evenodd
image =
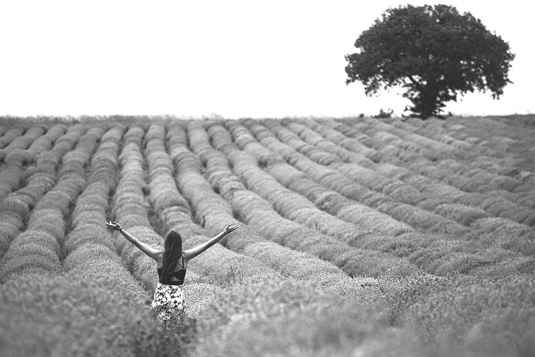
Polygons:
<instances>
[{"instance_id":1,"label":"lone dark tree with broad rounded crown on the horizon","mask_svg":"<svg viewBox=\"0 0 535 357\"><path fill-rule=\"evenodd\" d=\"M346 55L346 83L363 82L368 96L381 87L407 88L403 97L412 102L411 116L422 119L444 118L441 108L458 93L489 89L496 99L512 83L509 44L453 6L388 9L355 47L357 53Z\"/></svg>"}]
</instances>

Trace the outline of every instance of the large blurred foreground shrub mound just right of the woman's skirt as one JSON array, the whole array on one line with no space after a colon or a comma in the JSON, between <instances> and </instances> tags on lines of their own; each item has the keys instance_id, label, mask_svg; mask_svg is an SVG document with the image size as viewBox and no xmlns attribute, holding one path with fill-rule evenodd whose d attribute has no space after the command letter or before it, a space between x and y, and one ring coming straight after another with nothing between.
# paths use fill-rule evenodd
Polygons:
<instances>
[{"instance_id":1,"label":"large blurred foreground shrub mound just right of the woman's skirt","mask_svg":"<svg viewBox=\"0 0 535 357\"><path fill-rule=\"evenodd\" d=\"M295 282L237 286L201 315L196 356L429 355L385 314Z\"/></svg>"}]
</instances>

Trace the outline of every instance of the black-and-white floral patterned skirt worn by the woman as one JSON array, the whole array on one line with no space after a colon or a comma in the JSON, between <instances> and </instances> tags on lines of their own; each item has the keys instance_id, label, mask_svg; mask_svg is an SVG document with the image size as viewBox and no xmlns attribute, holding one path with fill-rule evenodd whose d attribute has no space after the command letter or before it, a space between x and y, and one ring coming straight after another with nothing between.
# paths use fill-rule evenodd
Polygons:
<instances>
[{"instance_id":1,"label":"black-and-white floral patterned skirt worn by the woman","mask_svg":"<svg viewBox=\"0 0 535 357\"><path fill-rule=\"evenodd\" d=\"M186 312L185 297L182 285L158 283L150 307L158 313L160 320L177 320Z\"/></svg>"}]
</instances>

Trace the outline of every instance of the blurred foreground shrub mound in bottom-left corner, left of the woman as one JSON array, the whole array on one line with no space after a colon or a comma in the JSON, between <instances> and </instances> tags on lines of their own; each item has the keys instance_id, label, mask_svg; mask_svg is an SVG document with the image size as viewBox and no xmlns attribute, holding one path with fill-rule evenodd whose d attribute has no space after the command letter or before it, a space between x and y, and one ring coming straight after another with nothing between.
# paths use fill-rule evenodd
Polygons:
<instances>
[{"instance_id":1,"label":"blurred foreground shrub mound in bottom-left corner, left of the woman","mask_svg":"<svg viewBox=\"0 0 535 357\"><path fill-rule=\"evenodd\" d=\"M0 287L0 355L181 356L195 321L165 336L147 302L102 278L77 274Z\"/></svg>"}]
</instances>

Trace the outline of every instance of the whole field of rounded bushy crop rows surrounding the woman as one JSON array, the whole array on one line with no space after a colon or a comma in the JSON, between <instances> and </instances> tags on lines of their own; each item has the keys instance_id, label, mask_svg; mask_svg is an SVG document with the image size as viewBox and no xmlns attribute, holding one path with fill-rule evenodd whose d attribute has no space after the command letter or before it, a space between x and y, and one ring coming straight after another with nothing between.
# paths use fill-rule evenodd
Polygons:
<instances>
[{"instance_id":1,"label":"whole field of rounded bushy crop rows surrounding the woman","mask_svg":"<svg viewBox=\"0 0 535 357\"><path fill-rule=\"evenodd\" d=\"M2 356L532 356L535 117L0 118ZM162 248L192 260L158 330Z\"/></svg>"}]
</instances>

